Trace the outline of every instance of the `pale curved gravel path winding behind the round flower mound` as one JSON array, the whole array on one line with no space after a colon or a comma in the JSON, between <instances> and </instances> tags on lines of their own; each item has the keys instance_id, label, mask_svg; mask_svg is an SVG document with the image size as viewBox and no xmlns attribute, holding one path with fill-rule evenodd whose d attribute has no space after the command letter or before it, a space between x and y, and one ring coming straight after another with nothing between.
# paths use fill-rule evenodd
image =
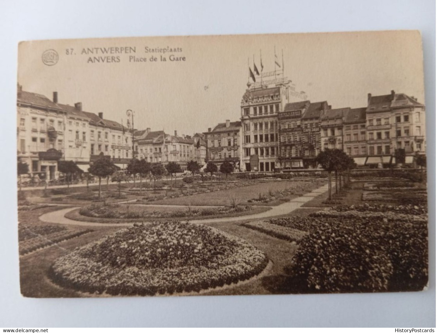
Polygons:
<instances>
[{"instance_id":1,"label":"pale curved gravel path winding behind the round flower mound","mask_svg":"<svg viewBox=\"0 0 437 333\"><path fill-rule=\"evenodd\" d=\"M320 194L326 192L328 190L328 184L319 187L318 189L313 190L303 196L292 199L287 203L282 203L278 206L272 206L272 209L267 210L263 213L251 214L251 215L243 215L243 216L234 216L234 217L218 217L215 219L201 219L201 220L188 220L191 223L213 223L213 222L234 222L234 221L242 221L247 219L259 219L259 218L267 218L274 217L278 215L291 213L293 210L300 208L304 203L307 203L311 199L319 196ZM152 206L152 205L147 205ZM153 205L153 206L161 206L161 207L169 207L169 205ZM172 206L172 207L180 207L186 208L186 206ZM196 207L208 207L208 206L196 206ZM42 214L39 219L43 222L49 223L59 223L59 224L69 224L75 226L86 226L86 227L124 227L124 226L132 226L134 222L126 222L126 223L97 223L97 222L83 222L67 219L64 215L73 209L77 209L79 207L69 207L66 209L59 209L54 212ZM138 222L136 222L138 223Z\"/></svg>"}]
</instances>

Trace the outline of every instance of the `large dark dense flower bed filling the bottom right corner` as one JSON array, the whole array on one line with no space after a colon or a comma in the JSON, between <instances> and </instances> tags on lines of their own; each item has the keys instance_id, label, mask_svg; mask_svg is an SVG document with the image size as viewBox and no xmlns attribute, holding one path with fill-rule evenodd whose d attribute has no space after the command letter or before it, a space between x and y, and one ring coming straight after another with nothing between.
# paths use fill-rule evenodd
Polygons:
<instances>
[{"instance_id":1,"label":"large dark dense flower bed filling the bottom right corner","mask_svg":"<svg viewBox=\"0 0 437 333\"><path fill-rule=\"evenodd\" d=\"M334 207L267 222L309 231L290 274L301 292L422 290L428 279L427 214L416 206Z\"/></svg>"}]
</instances>

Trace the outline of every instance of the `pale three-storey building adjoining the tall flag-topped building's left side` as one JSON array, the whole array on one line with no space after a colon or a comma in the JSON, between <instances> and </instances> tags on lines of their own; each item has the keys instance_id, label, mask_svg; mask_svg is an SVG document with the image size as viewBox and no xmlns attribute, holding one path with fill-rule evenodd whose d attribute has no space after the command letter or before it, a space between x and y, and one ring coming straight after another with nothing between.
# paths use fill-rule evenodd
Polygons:
<instances>
[{"instance_id":1,"label":"pale three-storey building adjoining the tall flag-topped building's left side","mask_svg":"<svg viewBox=\"0 0 437 333\"><path fill-rule=\"evenodd\" d=\"M226 120L205 132L206 160L220 165L228 161L235 169L241 168L241 138L242 127L240 121Z\"/></svg>"}]
</instances>

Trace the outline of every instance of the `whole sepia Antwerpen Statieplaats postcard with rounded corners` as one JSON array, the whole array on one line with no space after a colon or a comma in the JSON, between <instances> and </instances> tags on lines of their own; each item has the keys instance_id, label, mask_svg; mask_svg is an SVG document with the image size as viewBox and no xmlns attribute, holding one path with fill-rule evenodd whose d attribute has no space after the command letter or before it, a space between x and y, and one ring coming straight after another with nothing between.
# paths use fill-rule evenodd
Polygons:
<instances>
[{"instance_id":1,"label":"whole sepia Antwerpen Statieplaats postcard with rounded corners","mask_svg":"<svg viewBox=\"0 0 437 333\"><path fill-rule=\"evenodd\" d=\"M18 51L22 295L427 287L419 31Z\"/></svg>"}]
</instances>

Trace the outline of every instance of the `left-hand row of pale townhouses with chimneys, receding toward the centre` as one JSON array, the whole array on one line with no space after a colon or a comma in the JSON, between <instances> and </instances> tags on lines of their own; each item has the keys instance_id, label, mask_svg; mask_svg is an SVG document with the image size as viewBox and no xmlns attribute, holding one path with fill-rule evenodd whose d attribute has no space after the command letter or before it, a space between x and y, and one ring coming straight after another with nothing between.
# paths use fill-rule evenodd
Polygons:
<instances>
[{"instance_id":1,"label":"left-hand row of pale townhouses with chimneys, receding toward the centre","mask_svg":"<svg viewBox=\"0 0 437 333\"><path fill-rule=\"evenodd\" d=\"M188 161L205 164L204 134L191 136L163 131L132 130L105 119L102 112L84 111L82 103L59 103L58 93L48 97L17 89L17 157L29 165L32 175L48 180L59 177L58 161L74 161L87 172L101 155L120 169L130 160L176 161L186 169Z\"/></svg>"}]
</instances>

